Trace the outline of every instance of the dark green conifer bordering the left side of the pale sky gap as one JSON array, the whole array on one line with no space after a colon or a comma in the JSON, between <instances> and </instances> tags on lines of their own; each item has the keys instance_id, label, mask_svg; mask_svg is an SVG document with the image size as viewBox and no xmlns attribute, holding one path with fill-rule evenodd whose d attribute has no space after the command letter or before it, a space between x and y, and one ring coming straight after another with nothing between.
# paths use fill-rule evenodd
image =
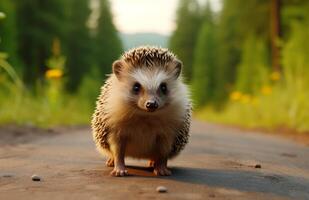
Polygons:
<instances>
[{"instance_id":1,"label":"dark green conifer bordering the left side of the pale sky gap","mask_svg":"<svg viewBox=\"0 0 309 200\"><path fill-rule=\"evenodd\" d=\"M100 13L96 29L96 60L99 72L104 78L111 73L111 66L122 53L121 40L113 24L108 0L100 0Z\"/></svg>"}]
</instances>

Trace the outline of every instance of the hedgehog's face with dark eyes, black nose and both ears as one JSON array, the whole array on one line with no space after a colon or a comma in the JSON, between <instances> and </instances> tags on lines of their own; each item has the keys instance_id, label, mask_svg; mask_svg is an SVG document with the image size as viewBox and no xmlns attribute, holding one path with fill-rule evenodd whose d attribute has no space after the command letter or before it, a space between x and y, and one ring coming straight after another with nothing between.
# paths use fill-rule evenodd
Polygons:
<instances>
[{"instance_id":1,"label":"hedgehog's face with dark eyes, black nose and both ears","mask_svg":"<svg viewBox=\"0 0 309 200\"><path fill-rule=\"evenodd\" d=\"M114 67L126 102L144 113L156 113L169 106L173 90L179 82L180 70L179 61L165 67L128 67L118 71L118 74Z\"/></svg>"}]
</instances>

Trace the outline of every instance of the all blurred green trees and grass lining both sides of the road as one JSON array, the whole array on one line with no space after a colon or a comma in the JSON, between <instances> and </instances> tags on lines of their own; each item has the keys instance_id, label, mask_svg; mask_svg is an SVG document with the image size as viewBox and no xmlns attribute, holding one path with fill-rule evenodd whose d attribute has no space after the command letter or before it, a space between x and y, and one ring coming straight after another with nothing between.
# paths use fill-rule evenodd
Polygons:
<instances>
[{"instance_id":1,"label":"all blurred green trees and grass lining both sides of the road","mask_svg":"<svg viewBox=\"0 0 309 200\"><path fill-rule=\"evenodd\" d=\"M179 0L169 48L195 116L309 131L309 3ZM0 124L89 124L123 51L108 0L0 1Z\"/></svg>"}]
</instances>

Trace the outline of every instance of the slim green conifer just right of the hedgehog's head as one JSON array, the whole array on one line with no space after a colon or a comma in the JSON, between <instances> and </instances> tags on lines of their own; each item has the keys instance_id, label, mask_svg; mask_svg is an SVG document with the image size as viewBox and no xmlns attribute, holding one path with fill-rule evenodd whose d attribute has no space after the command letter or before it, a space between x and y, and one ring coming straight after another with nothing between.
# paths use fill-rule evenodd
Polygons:
<instances>
[{"instance_id":1,"label":"slim green conifer just right of the hedgehog's head","mask_svg":"<svg viewBox=\"0 0 309 200\"><path fill-rule=\"evenodd\" d=\"M213 14L209 3L203 12L203 25L194 51L192 89L197 107L213 100L218 55Z\"/></svg>"}]
</instances>

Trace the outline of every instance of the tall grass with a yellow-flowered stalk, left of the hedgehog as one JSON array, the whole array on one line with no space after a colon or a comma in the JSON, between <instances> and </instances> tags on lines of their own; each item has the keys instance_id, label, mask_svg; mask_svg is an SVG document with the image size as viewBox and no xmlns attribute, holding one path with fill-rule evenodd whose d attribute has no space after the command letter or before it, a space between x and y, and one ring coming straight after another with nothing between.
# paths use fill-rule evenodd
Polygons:
<instances>
[{"instance_id":1,"label":"tall grass with a yellow-flowered stalk, left of the hedgehog","mask_svg":"<svg viewBox=\"0 0 309 200\"><path fill-rule=\"evenodd\" d=\"M77 93L67 93L63 89L65 58L57 50L47 61L45 80L31 90L7 62L7 54L0 52L0 124L51 127L90 123L100 82L90 74Z\"/></svg>"}]
</instances>

